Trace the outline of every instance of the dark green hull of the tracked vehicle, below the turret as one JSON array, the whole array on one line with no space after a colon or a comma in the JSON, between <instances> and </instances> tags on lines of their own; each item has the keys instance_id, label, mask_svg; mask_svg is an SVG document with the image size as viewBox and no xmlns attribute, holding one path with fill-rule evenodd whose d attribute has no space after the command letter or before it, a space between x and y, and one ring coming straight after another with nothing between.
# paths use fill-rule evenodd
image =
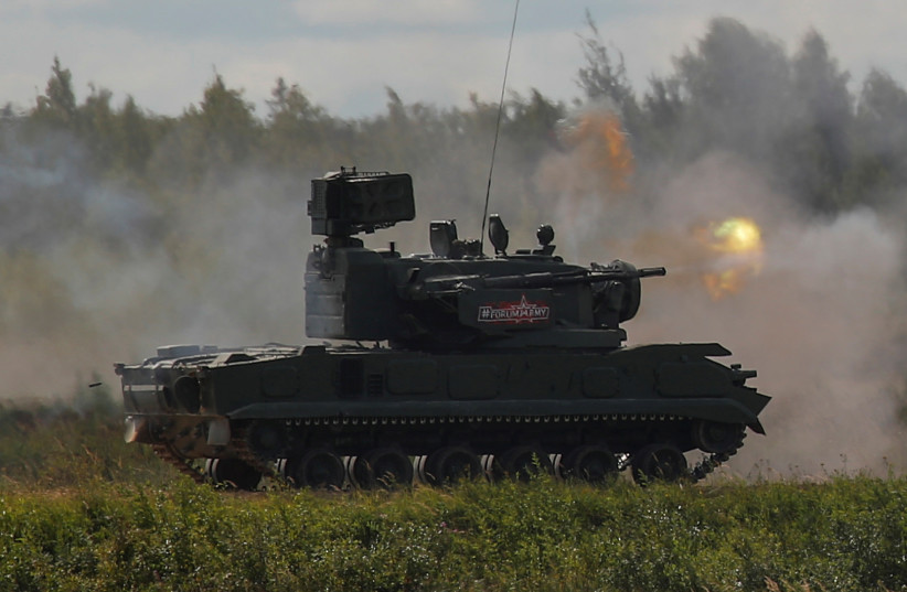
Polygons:
<instances>
[{"instance_id":1,"label":"dark green hull of the tracked vehicle, below the turret","mask_svg":"<svg viewBox=\"0 0 907 592\"><path fill-rule=\"evenodd\" d=\"M249 446L262 461L381 446L415 456L533 444L565 454L593 442L633 454L653 442L694 450L702 422L762 433L769 398L744 386L753 373L711 359L728 354L718 344L445 355L262 347L151 358L119 373L127 439L184 459L247 456Z\"/></svg>"}]
</instances>

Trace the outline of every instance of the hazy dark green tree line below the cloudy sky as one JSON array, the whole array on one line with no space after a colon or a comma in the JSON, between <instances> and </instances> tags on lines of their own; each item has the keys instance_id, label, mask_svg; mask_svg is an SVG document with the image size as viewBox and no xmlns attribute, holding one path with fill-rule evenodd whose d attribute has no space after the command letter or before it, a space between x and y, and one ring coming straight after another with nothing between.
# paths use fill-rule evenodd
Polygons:
<instances>
[{"instance_id":1,"label":"hazy dark green tree line below the cloudy sky","mask_svg":"<svg viewBox=\"0 0 907 592\"><path fill-rule=\"evenodd\" d=\"M727 150L760 163L804 208L823 214L894 200L907 182L907 92L881 69L852 85L817 31L788 55L766 33L714 19L674 56L672 72L639 90L625 56L588 15L587 25L578 97L565 104L535 89L509 96L501 133L511 164L532 170L558 149L558 121L579 104L599 103L619 114L640 175ZM386 110L344 119L282 78L264 116L221 75L177 117L154 115L131 97L116 106L111 96L89 85L79 103L71 72L55 60L28 111L3 109L4 143L12 129L25 143L65 132L84 147L84 164L95 174L153 191L191 192L210 171L249 163L306 174L356 162L439 172L445 163L447 179L471 175L480 183L497 119L497 105L476 95L466 108L441 108L404 103L391 88Z\"/></svg>"}]
</instances>

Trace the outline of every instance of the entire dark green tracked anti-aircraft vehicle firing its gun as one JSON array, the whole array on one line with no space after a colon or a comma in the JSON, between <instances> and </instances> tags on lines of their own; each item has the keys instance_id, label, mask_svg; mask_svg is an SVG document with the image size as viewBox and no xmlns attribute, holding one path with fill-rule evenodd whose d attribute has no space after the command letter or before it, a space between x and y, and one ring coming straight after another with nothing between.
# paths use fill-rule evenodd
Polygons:
<instances>
[{"instance_id":1,"label":"entire dark green tracked anti-aircraft vehicle firing its gun","mask_svg":"<svg viewBox=\"0 0 907 592\"><path fill-rule=\"evenodd\" d=\"M306 263L306 333L330 342L172 345L117 364L128 442L199 482L367 488L627 467L696 480L747 428L764 433L769 397L745 385L754 370L712 359L723 346L623 344L640 280L663 268L566 263L547 225L511 252L499 216L493 256L453 220L430 224L430 254L369 249L356 235L414 219L412 177L342 169L311 190L326 239Z\"/></svg>"}]
</instances>

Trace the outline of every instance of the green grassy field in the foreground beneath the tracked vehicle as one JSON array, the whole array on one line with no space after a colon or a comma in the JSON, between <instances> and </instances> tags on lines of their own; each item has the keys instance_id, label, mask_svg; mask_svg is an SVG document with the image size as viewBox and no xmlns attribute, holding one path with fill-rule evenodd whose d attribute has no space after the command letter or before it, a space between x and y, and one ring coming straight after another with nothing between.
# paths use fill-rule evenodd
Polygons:
<instances>
[{"instance_id":1,"label":"green grassy field in the foreground beneath the tracked vehicle","mask_svg":"<svg viewBox=\"0 0 907 592\"><path fill-rule=\"evenodd\" d=\"M0 409L0 590L905 590L907 480L199 486L115 406Z\"/></svg>"}]
</instances>

